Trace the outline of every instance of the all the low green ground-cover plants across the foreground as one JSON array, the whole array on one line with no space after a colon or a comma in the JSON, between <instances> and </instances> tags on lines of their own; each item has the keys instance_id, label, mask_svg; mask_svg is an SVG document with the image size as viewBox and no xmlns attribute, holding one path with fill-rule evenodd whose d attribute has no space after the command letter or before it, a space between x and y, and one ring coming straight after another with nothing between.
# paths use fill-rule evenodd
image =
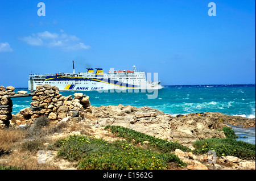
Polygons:
<instances>
[{"instance_id":1,"label":"all the low green ground-cover plants across the foreground","mask_svg":"<svg viewBox=\"0 0 256 181\"><path fill-rule=\"evenodd\" d=\"M115 136L125 138L125 141L112 143L88 136L69 136L55 142L59 150L58 156L77 161L78 169L118 169L118 170L150 170L170 169L170 163L175 162L180 167L186 166L171 151L180 149L191 151L177 143L162 140L147 134L119 126L107 126L106 130ZM197 140L193 146L195 154L207 154L209 150L216 151L216 155L233 155L241 159L255 159L255 145L243 141L236 141L236 135L230 128L222 128L226 138L211 138Z\"/></svg>"}]
</instances>

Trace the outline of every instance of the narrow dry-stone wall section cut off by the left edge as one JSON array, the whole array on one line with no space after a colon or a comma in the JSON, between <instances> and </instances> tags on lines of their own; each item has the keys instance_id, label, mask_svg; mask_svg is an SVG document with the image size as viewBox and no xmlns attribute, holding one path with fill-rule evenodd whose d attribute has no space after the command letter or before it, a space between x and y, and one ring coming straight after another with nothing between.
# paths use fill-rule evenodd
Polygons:
<instances>
[{"instance_id":1,"label":"narrow dry-stone wall section cut off by the left edge","mask_svg":"<svg viewBox=\"0 0 256 181\"><path fill-rule=\"evenodd\" d=\"M0 128L8 127L13 117L13 115L11 115L13 102L9 96L15 95L14 90L15 88L13 86L8 86L6 89L0 86Z\"/></svg>"}]
</instances>

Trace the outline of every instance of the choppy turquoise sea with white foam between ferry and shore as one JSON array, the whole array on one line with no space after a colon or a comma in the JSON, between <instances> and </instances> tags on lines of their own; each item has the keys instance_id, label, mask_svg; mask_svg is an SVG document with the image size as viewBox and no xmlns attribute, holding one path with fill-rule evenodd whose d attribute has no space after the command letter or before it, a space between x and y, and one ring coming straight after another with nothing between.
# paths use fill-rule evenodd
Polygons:
<instances>
[{"instance_id":1,"label":"choppy turquoise sea with white foam between ferry and shore","mask_svg":"<svg viewBox=\"0 0 256 181\"><path fill-rule=\"evenodd\" d=\"M27 88L16 88L16 91ZM28 91L29 92L29 91ZM76 91L60 92L63 96ZM164 113L187 115L188 113L221 112L255 118L255 85L177 85L162 86L162 89L147 91L79 91L89 96L92 106L135 106L151 107ZM154 95L154 96L152 96ZM154 97L154 99L152 99ZM30 107L31 97L12 98L13 113ZM255 144L255 128L233 127L238 140Z\"/></svg>"}]
</instances>

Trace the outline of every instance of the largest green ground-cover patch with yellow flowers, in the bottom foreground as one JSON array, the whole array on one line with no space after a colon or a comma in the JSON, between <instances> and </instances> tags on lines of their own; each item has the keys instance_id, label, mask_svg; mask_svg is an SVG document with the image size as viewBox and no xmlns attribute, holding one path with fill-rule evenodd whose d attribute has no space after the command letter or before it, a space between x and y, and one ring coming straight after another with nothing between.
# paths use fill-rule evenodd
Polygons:
<instances>
[{"instance_id":1,"label":"largest green ground-cover patch with yellow flowers, in the bottom foreground","mask_svg":"<svg viewBox=\"0 0 256 181\"><path fill-rule=\"evenodd\" d=\"M134 146L129 141L109 143L85 136L69 136L56 142L58 155L69 161L78 161L79 169L168 169L168 163L186 164L171 153L158 153Z\"/></svg>"}]
</instances>

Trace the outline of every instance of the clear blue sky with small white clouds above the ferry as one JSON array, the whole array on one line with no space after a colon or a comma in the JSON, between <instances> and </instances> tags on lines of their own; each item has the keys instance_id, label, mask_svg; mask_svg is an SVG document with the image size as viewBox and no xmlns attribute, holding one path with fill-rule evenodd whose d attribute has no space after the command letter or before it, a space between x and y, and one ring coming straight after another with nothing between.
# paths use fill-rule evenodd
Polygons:
<instances>
[{"instance_id":1,"label":"clear blue sky with small white clouds above the ferry","mask_svg":"<svg viewBox=\"0 0 256 181\"><path fill-rule=\"evenodd\" d=\"M255 83L255 1L0 1L0 85L72 72L72 60L76 71L136 65L162 85Z\"/></svg>"}]
</instances>

